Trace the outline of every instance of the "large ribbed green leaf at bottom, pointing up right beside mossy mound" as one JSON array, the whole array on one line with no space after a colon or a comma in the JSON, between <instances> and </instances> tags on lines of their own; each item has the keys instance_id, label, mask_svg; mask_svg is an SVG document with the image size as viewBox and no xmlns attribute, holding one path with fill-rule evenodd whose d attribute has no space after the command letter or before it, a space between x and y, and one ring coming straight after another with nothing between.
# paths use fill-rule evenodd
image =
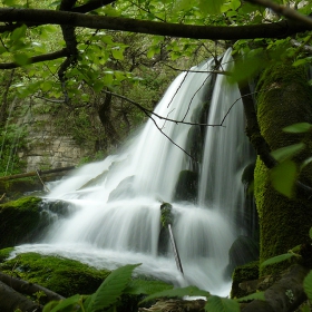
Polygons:
<instances>
[{"instance_id":1,"label":"large ribbed green leaf at bottom, pointing up right beside mossy mound","mask_svg":"<svg viewBox=\"0 0 312 312\"><path fill-rule=\"evenodd\" d=\"M138 265L139 264L128 264L111 272L91 295L86 312L101 311L116 303L116 300L121 295L129 283L133 271Z\"/></svg>"}]
</instances>

